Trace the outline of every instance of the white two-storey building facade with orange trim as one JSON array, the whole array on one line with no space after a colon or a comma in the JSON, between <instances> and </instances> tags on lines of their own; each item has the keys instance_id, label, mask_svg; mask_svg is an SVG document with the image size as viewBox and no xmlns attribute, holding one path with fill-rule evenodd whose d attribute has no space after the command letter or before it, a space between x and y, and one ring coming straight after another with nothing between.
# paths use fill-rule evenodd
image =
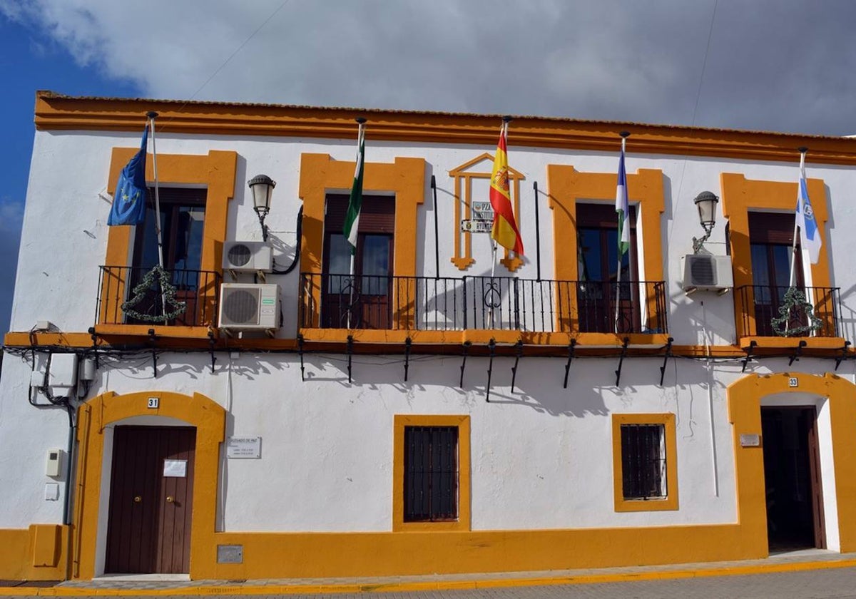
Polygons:
<instances>
[{"instance_id":1,"label":"white two-storey building facade with orange trim","mask_svg":"<svg viewBox=\"0 0 856 599\"><path fill-rule=\"evenodd\" d=\"M165 274L154 193L146 222L106 224L149 110ZM38 92L35 124L0 578L856 550L856 140L517 117L526 256L494 258L498 116ZM800 146L816 264L792 252Z\"/></svg>"}]
</instances>

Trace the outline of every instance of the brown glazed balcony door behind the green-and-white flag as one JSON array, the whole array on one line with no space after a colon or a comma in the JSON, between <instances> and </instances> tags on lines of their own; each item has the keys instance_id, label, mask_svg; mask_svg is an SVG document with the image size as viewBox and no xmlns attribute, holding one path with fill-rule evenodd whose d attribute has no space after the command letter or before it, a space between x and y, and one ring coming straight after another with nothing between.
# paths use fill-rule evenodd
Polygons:
<instances>
[{"instance_id":1,"label":"brown glazed balcony door behind the green-and-white flag","mask_svg":"<svg viewBox=\"0 0 856 599\"><path fill-rule=\"evenodd\" d=\"M360 211L354 277L351 248L342 234L348 196L327 197L324 216L322 327L389 329L392 322L392 253L395 199L364 196Z\"/></svg>"}]
</instances>

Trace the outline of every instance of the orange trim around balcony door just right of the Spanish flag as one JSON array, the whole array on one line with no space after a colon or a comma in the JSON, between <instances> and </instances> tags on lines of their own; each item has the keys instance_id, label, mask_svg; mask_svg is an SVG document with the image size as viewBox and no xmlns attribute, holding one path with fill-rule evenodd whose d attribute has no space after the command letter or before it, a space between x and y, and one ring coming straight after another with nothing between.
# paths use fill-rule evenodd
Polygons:
<instances>
[{"instance_id":1,"label":"orange trim around balcony door just right of the Spanish flag","mask_svg":"<svg viewBox=\"0 0 856 599\"><path fill-rule=\"evenodd\" d=\"M614 143L613 150L617 145ZM636 148L635 141L633 151ZM615 169L618 162L616 157ZM553 239L556 248L553 256L556 281L579 281L577 272L577 235L568 234L577 230L577 202L585 200L615 205L615 173L581 173L571 165L548 164L547 184L550 195L549 207L553 211ZM627 196L631 204L638 204L637 228L643 243L639 260L640 281L665 281L663 276L663 240L660 221L665 210L663 199L663 171L639 169L635 175L627 174ZM616 217L617 222L617 217ZM616 225L617 226L617 225ZM561 240L561 242L559 242ZM637 249L637 253L639 253ZM577 307L575 294L556 293L565 296L566 305L557 312L570 314L570 320L558 323L560 330L576 330ZM654 299L649 298L652 302ZM664 324L664 323L663 323ZM659 323L649 323L651 329L665 329Z\"/></svg>"}]
</instances>

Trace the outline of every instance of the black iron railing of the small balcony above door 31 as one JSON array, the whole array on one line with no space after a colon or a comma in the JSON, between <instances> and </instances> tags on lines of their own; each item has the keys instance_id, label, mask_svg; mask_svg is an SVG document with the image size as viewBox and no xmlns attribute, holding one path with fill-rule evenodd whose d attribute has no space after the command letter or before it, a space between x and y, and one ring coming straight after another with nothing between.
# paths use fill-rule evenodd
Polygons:
<instances>
[{"instance_id":1,"label":"black iron railing of the small balcony above door 31","mask_svg":"<svg viewBox=\"0 0 856 599\"><path fill-rule=\"evenodd\" d=\"M144 283L150 270L102 266L98 279L95 323L172 326L217 324L217 301L220 296L220 275L217 272L169 270L169 285L175 288L175 297L166 297L167 306L164 309L164 294L159 282ZM183 303L183 310L179 303ZM122 305L125 305L124 309ZM163 314L175 311L180 313L163 318Z\"/></svg>"}]
</instances>

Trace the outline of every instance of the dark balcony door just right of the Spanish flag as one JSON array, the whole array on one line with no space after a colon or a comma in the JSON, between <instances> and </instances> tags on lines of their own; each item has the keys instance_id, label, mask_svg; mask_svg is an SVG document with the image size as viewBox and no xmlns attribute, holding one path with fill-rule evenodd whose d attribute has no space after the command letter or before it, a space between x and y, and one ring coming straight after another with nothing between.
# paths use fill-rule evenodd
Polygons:
<instances>
[{"instance_id":1,"label":"dark balcony door just right of the Spanish flag","mask_svg":"<svg viewBox=\"0 0 856 599\"><path fill-rule=\"evenodd\" d=\"M636 272L636 214L630 209L630 247L618 273L618 216L615 207L577 204L577 305L582 333L628 333L639 329ZM621 294L616 309L616 295Z\"/></svg>"}]
</instances>

